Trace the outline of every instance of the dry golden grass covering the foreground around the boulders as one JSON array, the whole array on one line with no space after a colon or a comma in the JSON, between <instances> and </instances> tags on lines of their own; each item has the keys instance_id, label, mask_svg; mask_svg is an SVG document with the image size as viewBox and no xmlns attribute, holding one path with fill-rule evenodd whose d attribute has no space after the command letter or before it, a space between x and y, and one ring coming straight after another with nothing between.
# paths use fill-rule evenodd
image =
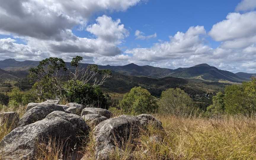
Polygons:
<instances>
[{"instance_id":1,"label":"dry golden grass covering the foreground around the boulders","mask_svg":"<svg viewBox=\"0 0 256 160\"><path fill-rule=\"evenodd\" d=\"M17 112L22 115L24 111L19 109ZM115 115L120 114L122 113L115 112ZM123 146L123 151L111 154L111 159L256 159L255 119L228 116L216 119L154 116L162 122L164 131L149 127L148 132L141 133L135 141L128 141ZM8 132L3 127L0 129L2 139ZM150 142L151 135L161 135L163 142ZM94 145L90 136L79 150L87 159L93 160ZM63 146L46 146L38 152L38 160L63 158Z\"/></svg>"}]
</instances>

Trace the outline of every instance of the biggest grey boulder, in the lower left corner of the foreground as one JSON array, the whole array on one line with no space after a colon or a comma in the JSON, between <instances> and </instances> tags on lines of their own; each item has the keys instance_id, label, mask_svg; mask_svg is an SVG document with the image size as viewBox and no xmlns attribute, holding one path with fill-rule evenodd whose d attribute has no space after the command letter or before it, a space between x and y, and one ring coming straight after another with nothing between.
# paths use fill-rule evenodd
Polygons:
<instances>
[{"instance_id":1,"label":"biggest grey boulder, in the lower left corner of the foreground","mask_svg":"<svg viewBox=\"0 0 256 160\"><path fill-rule=\"evenodd\" d=\"M80 145L79 138L87 136L88 130L89 127L79 115L54 111L43 120L18 127L6 135L0 142L2 157L4 160L32 160L36 144L47 144L49 137L63 141L64 146Z\"/></svg>"}]
</instances>

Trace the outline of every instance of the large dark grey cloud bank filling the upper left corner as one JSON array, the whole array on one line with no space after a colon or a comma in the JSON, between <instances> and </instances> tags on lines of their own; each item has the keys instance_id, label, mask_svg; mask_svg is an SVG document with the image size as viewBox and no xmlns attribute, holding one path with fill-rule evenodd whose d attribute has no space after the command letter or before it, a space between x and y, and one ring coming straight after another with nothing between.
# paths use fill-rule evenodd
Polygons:
<instances>
[{"instance_id":1,"label":"large dark grey cloud bank filling the upper left corner","mask_svg":"<svg viewBox=\"0 0 256 160\"><path fill-rule=\"evenodd\" d=\"M85 27L98 11L124 11L140 0L0 0L0 31L61 41L61 32Z\"/></svg>"}]
</instances>

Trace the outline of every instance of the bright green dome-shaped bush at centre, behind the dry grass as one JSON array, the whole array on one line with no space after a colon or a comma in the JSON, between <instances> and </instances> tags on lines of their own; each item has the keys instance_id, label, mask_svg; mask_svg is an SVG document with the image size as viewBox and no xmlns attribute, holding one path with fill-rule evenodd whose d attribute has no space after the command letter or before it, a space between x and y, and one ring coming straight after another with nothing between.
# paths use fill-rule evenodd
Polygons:
<instances>
[{"instance_id":1,"label":"bright green dome-shaped bush at centre, behind the dry grass","mask_svg":"<svg viewBox=\"0 0 256 160\"><path fill-rule=\"evenodd\" d=\"M155 97L151 96L147 89L134 87L124 94L118 107L132 114L152 113L158 108Z\"/></svg>"}]
</instances>

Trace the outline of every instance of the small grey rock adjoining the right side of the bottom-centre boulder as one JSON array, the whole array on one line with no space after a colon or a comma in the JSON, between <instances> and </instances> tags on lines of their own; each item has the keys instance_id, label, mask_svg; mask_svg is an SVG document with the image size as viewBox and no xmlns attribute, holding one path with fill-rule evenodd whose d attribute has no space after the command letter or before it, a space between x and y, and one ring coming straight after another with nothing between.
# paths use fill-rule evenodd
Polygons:
<instances>
[{"instance_id":1,"label":"small grey rock adjoining the right side of the bottom-centre boulder","mask_svg":"<svg viewBox=\"0 0 256 160\"><path fill-rule=\"evenodd\" d=\"M149 114L141 114L137 116L140 120L140 125L145 129L148 124L154 125L158 129L163 129L162 122Z\"/></svg>"}]
</instances>

